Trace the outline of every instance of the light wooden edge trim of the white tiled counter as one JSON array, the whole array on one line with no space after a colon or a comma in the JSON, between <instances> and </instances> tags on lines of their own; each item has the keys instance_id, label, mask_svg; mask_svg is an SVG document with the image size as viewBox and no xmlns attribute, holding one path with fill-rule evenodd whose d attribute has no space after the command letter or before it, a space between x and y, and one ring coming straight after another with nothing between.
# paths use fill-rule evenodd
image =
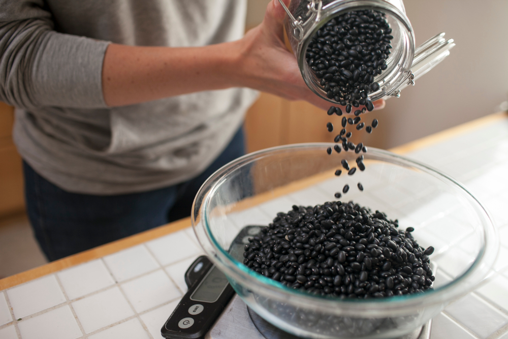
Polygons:
<instances>
[{"instance_id":1,"label":"light wooden edge trim of the white tiled counter","mask_svg":"<svg viewBox=\"0 0 508 339\"><path fill-rule=\"evenodd\" d=\"M444 140L448 140L457 135L467 133L479 127L492 124L496 121L501 121L503 119L506 119L506 117L508 117L508 114L506 112L490 114L475 120L471 120L469 122L465 122L464 124L452 127L442 132L432 134L428 137L423 137L421 139L406 143L404 145L391 148L390 151L398 154L414 151L423 147L436 144L438 142L442 142ZM154 229L141 232L132 235L130 237L126 237L123 239L119 239L104 244L102 246L98 246L88 251L83 251L75 255L62 258L60 260L56 260L18 274L8 276L7 278L0 280L0 291L28 282L30 280L40 278L41 276L50 273L58 272L62 269L69 268L71 266L76 266L90 260L102 258L104 256L124 250L131 246L138 245L140 243L179 231L188 226L190 226L190 218L181 219L167 225L156 227Z\"/></svg>"}]
</instances>

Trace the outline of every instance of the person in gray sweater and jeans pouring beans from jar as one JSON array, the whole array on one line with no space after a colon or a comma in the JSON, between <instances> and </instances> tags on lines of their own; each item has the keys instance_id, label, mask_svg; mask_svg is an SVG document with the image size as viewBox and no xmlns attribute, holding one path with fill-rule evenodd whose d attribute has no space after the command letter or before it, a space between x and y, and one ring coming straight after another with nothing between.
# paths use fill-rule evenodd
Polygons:
<instances>
[{"instance_id":1,"label":"person in gray sweater and jeans pouring beans from jar","mask_svg":"<svg viewBox=\"0 0 508 339\"><path fill-rule=\"evenodd\" d=\"M245 36L246 0L0 8L0 100L16 107L27 213L49 260L189 215L204 180L244 154L257 91L330 106L283 43L278 0Z\"/></svg>"}]
</instances>

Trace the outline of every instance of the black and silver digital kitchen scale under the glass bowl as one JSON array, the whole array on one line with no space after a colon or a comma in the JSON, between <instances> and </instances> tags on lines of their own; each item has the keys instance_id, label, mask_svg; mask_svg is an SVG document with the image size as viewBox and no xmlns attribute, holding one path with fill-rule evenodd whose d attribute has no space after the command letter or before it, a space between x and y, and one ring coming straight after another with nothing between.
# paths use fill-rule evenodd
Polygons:
<instances>
[{"instance_id":1,"label":"black and silver digital kitchen scale under the glass bowl","mask_svg":"<svg viewBox=\"0 0 508 339\"><path fill-rule=\"evenodd\" d=\"M230 253L243 257L248 238L260 226L246 226L233 241ZM273 326L234 293L224 273L206 256L199 257L185 272L188 291L161 329L168 339L300 339ZM430 339L432 320L398 339Z\"/></svg>"}]
</instances>

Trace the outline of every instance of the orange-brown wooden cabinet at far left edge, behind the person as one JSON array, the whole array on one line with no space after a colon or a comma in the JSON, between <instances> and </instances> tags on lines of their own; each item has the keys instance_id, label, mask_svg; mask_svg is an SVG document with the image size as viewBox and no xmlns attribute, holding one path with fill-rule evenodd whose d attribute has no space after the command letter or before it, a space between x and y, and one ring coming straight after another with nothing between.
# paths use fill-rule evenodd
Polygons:
<instances>
[{"instance_id":1,"label":"orange-brown wooden cabinet at far left edge, behind the person","mask_svg":"<svg viewBox=\"0 0 508 339\"><path fill-rule=\"evenodd\" d=\"M14 109L0 102L0 218L24 210L21 157L12 142Z\"/></svg>"}]
</instances>

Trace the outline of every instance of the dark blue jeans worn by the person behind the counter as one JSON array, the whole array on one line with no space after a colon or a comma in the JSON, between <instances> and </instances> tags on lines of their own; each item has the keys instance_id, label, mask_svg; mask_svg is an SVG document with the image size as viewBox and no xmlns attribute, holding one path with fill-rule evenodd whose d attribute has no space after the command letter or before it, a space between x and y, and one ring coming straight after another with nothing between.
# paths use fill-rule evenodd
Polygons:
<instances>
[{"instance_id":1,"label":"dark blue jeans worn by the person behind the counter","mask_svg":"<svg viewBox=\"0 0 508 339\"><path fill-rule=\"evenodd\" d=\"M42 251L53 261L190 215L203 182L243 156L240 129L198 177L149 192L96 196L64 191L23 162L28 218Z\"/></svg>"}]
</instances>

